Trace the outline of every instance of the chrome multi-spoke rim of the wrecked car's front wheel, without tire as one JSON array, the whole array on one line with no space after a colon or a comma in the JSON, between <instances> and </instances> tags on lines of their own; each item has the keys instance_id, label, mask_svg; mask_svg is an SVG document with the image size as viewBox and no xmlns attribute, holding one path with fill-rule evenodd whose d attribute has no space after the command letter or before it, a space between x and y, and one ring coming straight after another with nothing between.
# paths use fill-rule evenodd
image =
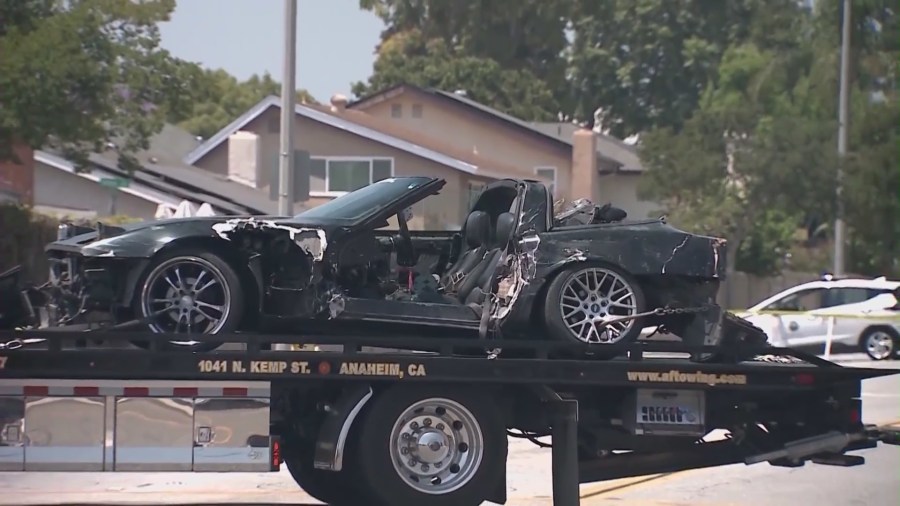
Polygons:
<instances>
[{"instance_id":1,"label":"chrome multi-spoke rim of the wrecked car's front wheel, without tire","mask_svg":"<svg viewBox=\"0 0 900 506\"><path fill-rule=\"evenodd\" d=\"M156 333L213 334L228 319L231 297L231 288L215 265L198 257L175 257L147 276L141 311L144 317L162 311L149 323Z\"/></svg>"}]
</instances>

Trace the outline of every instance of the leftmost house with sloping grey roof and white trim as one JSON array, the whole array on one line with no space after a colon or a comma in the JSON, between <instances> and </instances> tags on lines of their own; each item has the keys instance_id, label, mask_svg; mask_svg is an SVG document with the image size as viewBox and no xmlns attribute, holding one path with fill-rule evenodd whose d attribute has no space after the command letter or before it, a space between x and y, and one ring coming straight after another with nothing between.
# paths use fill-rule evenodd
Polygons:
<instances>
[{"instance_id":1,"label":"leftmost house with sloping grey roof and white trim","mask_svg":"<svg viewBox=\"0 0 900 506\"><path fill-rule=\"evenodd\" d=\"M112 150L92 153L86 170L52 149L34 152L33 206L43 214L97 218L115 214L153 219L160 206L174 210L184 200L209 203L217 214L276 214L277 203L264 192L185 165L181 159L199 142L166 125L132 177L118 168ZM118 187L128 180L127 186Z\"/></svg>"}]
</instances>

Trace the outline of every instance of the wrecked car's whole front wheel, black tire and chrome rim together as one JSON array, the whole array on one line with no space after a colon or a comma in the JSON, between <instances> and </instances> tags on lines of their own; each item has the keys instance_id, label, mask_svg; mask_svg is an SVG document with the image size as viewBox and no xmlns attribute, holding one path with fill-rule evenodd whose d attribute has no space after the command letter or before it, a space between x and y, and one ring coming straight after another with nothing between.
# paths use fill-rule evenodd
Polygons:
<instances>
[{"instance_id":1,"label":"wrecked car's whole front wheel, black tire and chrome rim together","mask_svg":"<svg viewBox=\"0 0 900 506\"><path fill-rule=\"evenodd\" d=\"M183 275L182 268L185 270ZM176 290L179 289L185 294L184 296L178 295ZM178 302L175 302L174 297L179 298ZM168 327L177 323L177 328L182 328L184 325L182 317L187 314L191 319L192 326L194 323L199 324L204 320L210 322L203 332L191 334L196 339L195 336L234 332L244 315L245 296L238 273L224 258L199 248L173 250L155 258L147 266L135 285L133 306L135 317L141 319L147 314L152 314L154 310L165 304L156 301L167 298L171 298L172 303L177 304L187 303L189 298L194 305L190 309L184 309L184 306L175 307L172 311L159 315L162 319L140 326L141 331L172 332L174 329ZM222 309L220 311L210 309L212 306ZM189 312L185 313L184 311ZM176 313L178 314L177 322L174 321ZM219 318L213 323L215 316L219 316ZM198 317L199 322L197 321ZM134 341L133 344L145 349L150 346L150 343L145 341ZM220 341L204 337L199 341L167 341L160 343L159 348L206 352L221 345Z\"/></svg>"}]
</instances>

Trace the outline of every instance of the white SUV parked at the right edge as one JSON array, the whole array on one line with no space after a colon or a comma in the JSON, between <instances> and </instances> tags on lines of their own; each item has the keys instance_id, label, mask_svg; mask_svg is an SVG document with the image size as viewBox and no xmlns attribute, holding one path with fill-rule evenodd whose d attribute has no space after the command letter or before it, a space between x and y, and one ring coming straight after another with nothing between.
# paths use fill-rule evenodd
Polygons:
<instances>
[{"instance_id":1,"label":"white SUV parked at the right edge","mask_svg":"<svg viewBox=\"0 0 900 506\"><path fill-rule=\"evenodd\" d=\"M900 281L824 279L781 291L739 316L764 329L778 346L832 346L865 351L873 360L892 358L900 349Z\"/></svg>"}]
</instances>

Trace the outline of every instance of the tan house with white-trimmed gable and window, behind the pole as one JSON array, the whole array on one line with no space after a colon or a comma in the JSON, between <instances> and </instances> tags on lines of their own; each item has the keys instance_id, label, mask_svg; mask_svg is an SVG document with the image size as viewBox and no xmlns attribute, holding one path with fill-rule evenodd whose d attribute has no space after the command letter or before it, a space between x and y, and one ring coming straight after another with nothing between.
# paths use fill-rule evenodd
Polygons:
<instances>
[{"instance_id":1,"label":"tan house with white-trimmed gable and window, behind the pole","mask_svg":"<svg viewBox=\"0 0 900 506\"><path fill-rule=\"evenodd\" d=\"M349 109L336 95L330 105L297 104L295 149L310 154L309 199L316 206L380 179L401 175L440 177L439 195L414 206L414 229L459 228L485 184L514 177L546 180L518 160L486 156L366 111ZM184 163L242 182L273 196L277 185L281 103L270 96L203 142Z\"/></svg>"}]
</instances>

